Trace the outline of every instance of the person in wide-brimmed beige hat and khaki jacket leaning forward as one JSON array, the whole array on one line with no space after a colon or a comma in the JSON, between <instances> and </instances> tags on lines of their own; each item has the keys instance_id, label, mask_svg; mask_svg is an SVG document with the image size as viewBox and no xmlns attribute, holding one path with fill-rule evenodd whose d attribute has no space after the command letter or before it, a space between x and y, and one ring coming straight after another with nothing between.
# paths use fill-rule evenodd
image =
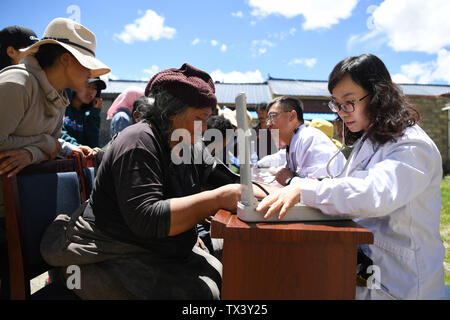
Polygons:
<instances>
[{"instance_id":1,"label":"person in wide-brimmed beige hat and khaki jacket leaning forward","mask_svg":"<svg viewBox=\"0 0 450 320\"><path fill-rule=\"evenodd\" d=\"M59 150L65 88L82 91L88 79L110 69L95 58L95 35L73 20L57 18L22 63L0 72L0 175L12 176Z\"/></svg>"}]
</instances>

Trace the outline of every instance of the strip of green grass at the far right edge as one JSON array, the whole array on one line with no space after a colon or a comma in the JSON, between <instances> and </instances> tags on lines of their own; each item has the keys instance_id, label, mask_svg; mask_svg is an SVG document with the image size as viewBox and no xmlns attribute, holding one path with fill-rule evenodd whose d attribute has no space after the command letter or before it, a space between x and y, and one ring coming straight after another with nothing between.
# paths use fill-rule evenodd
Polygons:
<instances>
[{"instance_id":1,"label":"strip of green grass at the far right edge","mask_svg":"<svg viewBox=\"0 0 450 320\"><path fill-rule=\"evenodd\" d=\"M441 237L445 245L445 284L450 285L450 176L441 182Z\"/></svg>"}]
</instances>

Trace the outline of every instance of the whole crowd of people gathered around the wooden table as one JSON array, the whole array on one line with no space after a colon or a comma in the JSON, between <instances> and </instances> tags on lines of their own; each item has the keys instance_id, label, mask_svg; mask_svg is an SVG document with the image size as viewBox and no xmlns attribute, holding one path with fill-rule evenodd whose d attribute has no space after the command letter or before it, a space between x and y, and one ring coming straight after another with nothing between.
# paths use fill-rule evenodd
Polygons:
<instances>
[{"instance_id":1,"label":"whole crowd of people gathered around the wooden table","mask_svg":"<svg viewBox=\"0 0 450 320\"><path fill-rule=\"evenodd\" d=\"M80 267L74 292L82 299L220 299L222 243L211 239L209 221L240 200L239 176L226 168L239 168L239 135L236 112L218 107L211 76L185 63L157 73L145 90L127 88L107 112L111 141L101 146L101 76L110 69L95 57L95 34L57 18L40 40L6 27L0 45L0 175L73 153L96 160L89 200L59 215L42 238L47 263L62 280L67 266ZM419 112L371 54L340 61L328 89L342 142L331 123L305 121L299 99L257 106L255 152L282 186L267 186L268 195L255 187L257 211L282 219L301 202L369 229L374 244L360 254L381 269L381 288L357 287L358 299L443 298L442 159ZM206 140L207 130L220 139ZM190 161L197 153L203 161Z\"/></svg>"}]
</instances>

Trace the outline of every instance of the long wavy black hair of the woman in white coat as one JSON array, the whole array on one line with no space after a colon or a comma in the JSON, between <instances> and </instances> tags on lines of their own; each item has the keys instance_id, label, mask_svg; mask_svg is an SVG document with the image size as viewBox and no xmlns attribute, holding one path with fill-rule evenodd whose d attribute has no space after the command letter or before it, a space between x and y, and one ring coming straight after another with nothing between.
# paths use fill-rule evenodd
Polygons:
<instances>
[{"instance_id":1,"label":"long wavy black hair of the woman in white coat","mask_svg":"<svg viewBox=\"0 0 450 320\"><path fill-rule=\"evenodd\" d=\"M370 120L366 131L372 142L384 144L401 136L407 127L418 123L421 116L404 96L401 88L392 82L389 71L378 57L372 54L348 57L339 62L330 73L328 91L345 76L369 93L370 102L366 108ZM351 132L347 127L345 140L350 144L362 136L363 132Z\"/></svg>"}]
</instances>

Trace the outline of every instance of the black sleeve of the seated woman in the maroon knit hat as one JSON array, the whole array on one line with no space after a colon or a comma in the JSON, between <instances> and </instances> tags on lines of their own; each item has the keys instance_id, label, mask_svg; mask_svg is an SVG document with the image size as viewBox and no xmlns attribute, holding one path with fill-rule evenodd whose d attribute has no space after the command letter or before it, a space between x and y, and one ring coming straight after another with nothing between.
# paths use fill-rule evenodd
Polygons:
<instances>
[{"instance_id":1,"label":"black sleeve of the seated woman in the maroon knit hat","mask_svg":"<svg viewBox=\"0 0 450 320\"><path fill-rule=\"evenodd\" d=\"M120 212L130 230L142 238L167 237L170 203L164 199L157 152L131 149L114 161L112 171Z\"/></svg>"}]
</instances>

